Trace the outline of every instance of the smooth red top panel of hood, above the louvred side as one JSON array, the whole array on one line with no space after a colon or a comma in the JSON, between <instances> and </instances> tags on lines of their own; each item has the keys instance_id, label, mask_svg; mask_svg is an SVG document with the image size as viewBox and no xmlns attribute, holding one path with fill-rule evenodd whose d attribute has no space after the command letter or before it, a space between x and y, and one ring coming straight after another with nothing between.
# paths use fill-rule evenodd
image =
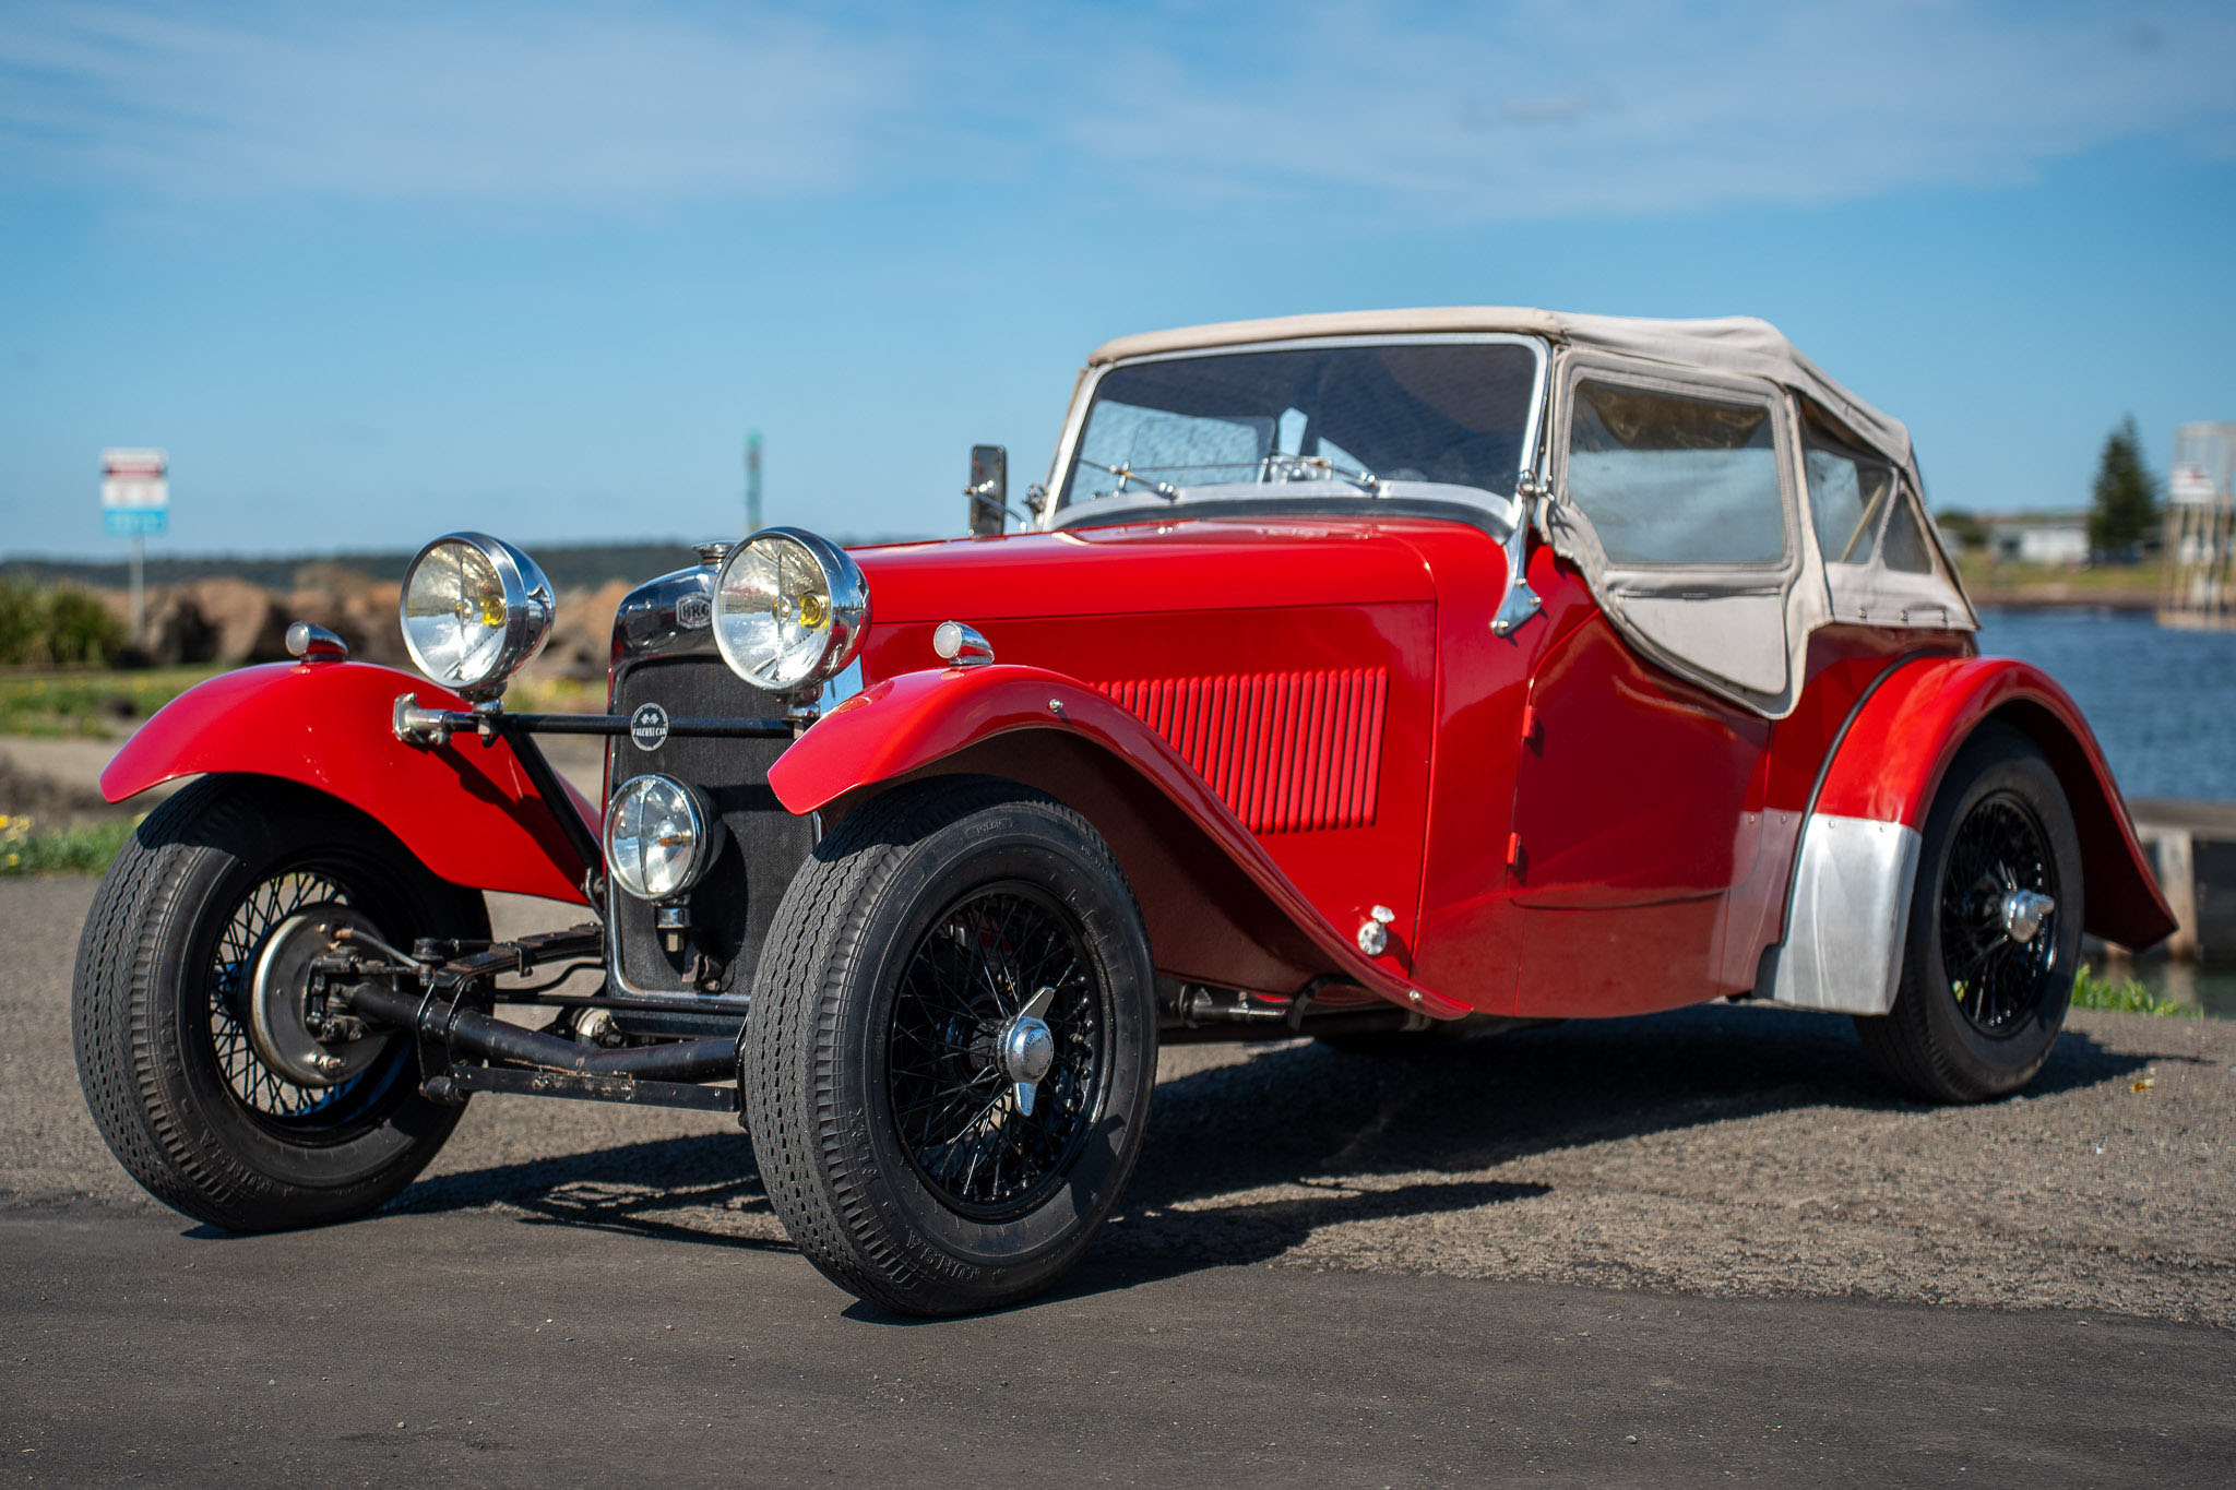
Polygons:
<instances>
[{"instance_id":1,"label":"smooth red top panel of hood, above the louvred side","mask_svg":"<svg viewBox=\"0 0 2236 1490\"><path fill-rule=\"evenodd\" d=\"M1176 518L854 550L872 625L1433 601L1420 523Z\"/></svg>"}]
</instances>

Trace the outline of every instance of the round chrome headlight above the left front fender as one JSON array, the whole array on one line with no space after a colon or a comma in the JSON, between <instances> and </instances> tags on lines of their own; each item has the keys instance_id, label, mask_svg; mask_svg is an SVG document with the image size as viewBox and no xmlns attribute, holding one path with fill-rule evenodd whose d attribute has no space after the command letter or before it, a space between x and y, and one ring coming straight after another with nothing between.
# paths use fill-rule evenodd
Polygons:
<instances>
[{"instance_id":1,"label":"round chrome headlight above the left front fender","mask_svg":"<svg viewBox=\"0 0 2236 1490\"><path fill-rule=\"evenodd\" d=\"M510 543L447 534L405 570L396 610L420 672L467 697L494 697L543 650L552 583Z\"/></svg>"}]
</instances>

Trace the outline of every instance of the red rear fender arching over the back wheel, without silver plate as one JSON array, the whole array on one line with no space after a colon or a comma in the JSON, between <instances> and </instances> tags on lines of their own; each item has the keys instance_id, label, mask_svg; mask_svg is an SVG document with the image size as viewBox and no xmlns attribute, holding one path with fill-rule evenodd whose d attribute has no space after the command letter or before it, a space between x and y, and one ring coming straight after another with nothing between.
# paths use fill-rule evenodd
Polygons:
<instances>
[{"instance_id":1,"label":"red rear fender arching over the back wheel, without silver plate","mask_svg":"<svg viewBox=\"0 0 2236 1490\"><path fill-rule=\"evenodd\" d=\"M1847 728L1813 811L1923 829L1950 762L1990 717L2026 733L2066 791L2082 840L2084 927L2138 949L2169 936L2173 911L2144 865L2095 733L2073 697L2030 663L1941 657L1896 670Z\"/></svg>"}]
</instances>

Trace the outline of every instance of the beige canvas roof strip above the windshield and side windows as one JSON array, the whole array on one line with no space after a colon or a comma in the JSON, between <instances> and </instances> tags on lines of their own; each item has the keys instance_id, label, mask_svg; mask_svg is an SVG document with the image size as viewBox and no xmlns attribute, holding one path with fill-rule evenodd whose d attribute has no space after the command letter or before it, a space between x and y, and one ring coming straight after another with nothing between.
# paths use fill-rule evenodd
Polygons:
<instances>
[{"instance_id":1,"label":"beige canvas roof strip above the windshield and side windows","mask_svg":"<svg viewBox=\"0 0 2236 1490\"><path fill-rule=\"evenodd\" d=\"M1333 311L1321 315L1275 315L1257 322L1212 322L1174 331L1145 331L1105 342L1087 366L1149 357L1169 351L1203 351L1243 342L1295 342L1299 337L1418 335L1433 331L1509 331L1570 346L1610 351L1670 366L1697 366L1742 378L1762 378L1825 404L1851 431L1894 460L1910 480L1918 469L1910 453L1910 429L1863 402L1800 348L1778 326L1755 315L1702 319L1655 319L1646 315L1570 315L1529 306L1427 306L1420 311ZM1923 489L1923 485L1918 487Z\"/></svg>"}]
</instances>

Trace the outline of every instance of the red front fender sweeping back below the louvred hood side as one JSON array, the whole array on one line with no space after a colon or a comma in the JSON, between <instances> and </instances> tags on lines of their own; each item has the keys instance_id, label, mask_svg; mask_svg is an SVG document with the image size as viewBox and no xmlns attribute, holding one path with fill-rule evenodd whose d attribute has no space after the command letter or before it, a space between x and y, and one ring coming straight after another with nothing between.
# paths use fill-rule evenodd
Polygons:
<instances>
[{"instance_id":1,"label":"red front fender sweeping back below the louvred hood side","mask_svg":"<svg viewBox=\"0 0 2236 1490\"><path fill-rule=\"evenodd\" d=\"M1100 791L1087 777L1102 762L1152 795ZM778 802L805 815L937 771L1008 775L1087 813L1129 867L1160 970L1219 981L1219 952L1205 943L1216 940L1212 927L1225 925L1221 916L1234 916L1234 929L1275 949L1261 965L1279 963L1295 974L1295 983L1333 976L1422 1014L1453 1019L1471 1012L1411 983L1393 958L1366 958L1156 730L1060 672L997 663L888 679L827 713L785 751L769 766L769 786ZM1145 802L1178 811L1185 827L1201 835L1194 853L1172 847L1169 833L1143 820ZM1165 842L1156 842L1160 838ZM1201 853L1216 853L1216 869L1239 876L1239 889L1261 898L1266 916L1241 909L1241 896L1207 894L1205 867L1194 862ZM1245 974L1232 974L1232 983L1292 992Z\"/></svg>"}]
</instances>

